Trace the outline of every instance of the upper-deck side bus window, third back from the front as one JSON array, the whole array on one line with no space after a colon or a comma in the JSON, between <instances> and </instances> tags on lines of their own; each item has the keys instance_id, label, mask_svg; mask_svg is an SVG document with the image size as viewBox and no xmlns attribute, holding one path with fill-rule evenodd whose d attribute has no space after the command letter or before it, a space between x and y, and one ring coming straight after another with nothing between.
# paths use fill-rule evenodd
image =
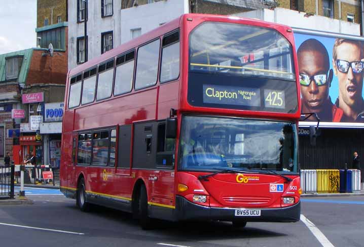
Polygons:
<instances>
[{"instance_id":1,"label":"upper-deck side bus window, third back from the front","mask_svg":"<svg viewBox=\"0 0 364 247\"><path fill-rule=\"evenodd\" d=\"M116 59L114 95L129 93L133 87L135 51Z\"/></svg>"}]
</instances>

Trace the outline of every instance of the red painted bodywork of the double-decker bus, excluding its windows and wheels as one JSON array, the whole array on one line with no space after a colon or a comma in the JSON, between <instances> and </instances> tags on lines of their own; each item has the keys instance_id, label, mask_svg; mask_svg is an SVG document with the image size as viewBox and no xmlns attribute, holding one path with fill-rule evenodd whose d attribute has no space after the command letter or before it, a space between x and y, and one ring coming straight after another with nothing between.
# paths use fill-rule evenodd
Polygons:
<instances>
[{"instance_id":1,"label":"red painted bodywork of the double-decker bus, excluding its windows and wheels","mask_svg":"<svg viewBox=\"0 0 364 247\"><path fill-rule=\"evenodd\" d=\"M105 205L127 212L134 212L135 200L138 198L140 186L145 186L148 195L148 216L166 220L236 219L237 209L260 209L261 216L239 218L244 221L295 222L300 217L300 177L299 174L287 176L292 181L286 182L282 177L272 174L257 174L258 182L237 183L241 179L238 174L218 174L209 181L199 180L199 175L206 172L178 171L177 158L173 169L135 169L133 168L133 142L135 123L158 121L170 117L170 110L176 110L177 137L175 157L178 157L178 143L182 114L223 115L234 117L251 117L297 122L300 117L300 92L297 84L298 109L292 113L277 113L263 111L247 111L236 109L220 109L194 107L187 101L188 71L189 71L189 34L203 22L236 23L265 28L272 28L281 33L293 48L294 69L298 71L297 55L292 29L284 25L267 23L258 20L229 18L226 16L186 14L166 23L157 29L141 35L130 42L114 48L101 56L90 60L68 73L65 93L65 111L62 130L61 152L61 191L69 198L77 198L79 183L85 182L86 200L91 203ZM155 86L135 90L130 93L111 96L108 99L96 100L93 103L68 109L70 78L93 66L116 58L118 55L144 45L150 40L163 38L163 35L179 29L180 33L180 72L178 79L160 84L159 76ZM136 59L134 60L136 63ZM160 70L160 66L159 66ZM159 74L159 73L158 73ZM115 73L114 73L115 76ZM135 76L135 66L134 66ZM131 125L131 152L129 168L79 166L72 150L77 153L78 133L103 127L115 127L119 136L119 127ZM76 143L74 143L74 138ZM118 154L118 142L116 154ZM74 145L76 146L74 147ZM116 164L118 157L116 155ZM282 193L270 193L272 183L284 184ZM186 191L178 190L178 185L188 187ZM296 188L296 189L292 189ZM249 191L244 195L241 191ZM206 202L193 202L195 194L207 195ZM256 194L256 196L254 196ZM294 203L283 205L284 196L294 197ZM259 201L259 203L257 203Z\"/></svg>"}]
</instances>

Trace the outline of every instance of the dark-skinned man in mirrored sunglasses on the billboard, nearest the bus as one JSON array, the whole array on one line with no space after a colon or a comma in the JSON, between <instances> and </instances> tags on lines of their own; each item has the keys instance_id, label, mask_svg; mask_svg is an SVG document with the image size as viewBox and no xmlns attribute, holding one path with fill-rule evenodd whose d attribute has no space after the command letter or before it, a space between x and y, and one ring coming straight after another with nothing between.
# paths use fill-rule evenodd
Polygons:
<instances>
[{"instance_id":1,"label":"dark-skinned man in mirrored sunglasses on the billboard, nearest the bus","mask_svg":"<svg viewBox=\"0 0 364 247\"><path fill-rule=\"evenodd\" d=\"M336 107L329 96L333 79L329 53L317 39L305 40L297 51L302 95L302 113L314 112L321 121L340 121L343 111ZM308 120L316 121L314 116Z\"/></svg>"}]
</instances>

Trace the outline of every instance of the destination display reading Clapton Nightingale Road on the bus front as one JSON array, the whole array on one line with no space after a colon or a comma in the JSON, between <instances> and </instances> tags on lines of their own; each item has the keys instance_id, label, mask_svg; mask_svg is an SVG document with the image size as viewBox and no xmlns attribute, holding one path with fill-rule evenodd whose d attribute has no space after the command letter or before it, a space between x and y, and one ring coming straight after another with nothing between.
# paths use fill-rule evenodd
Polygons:
<instances>
[{"instance_id":1,"label":"destination display reading Clapton Nightingale Road on the bus front","mask_svg":"<svg viewBox=\"0 0 364 247\"><path fill-rule=\"evenodd\" d=\"M203 103L261 106L260 89L203 85Z\"/></svg>"}]
</instances>

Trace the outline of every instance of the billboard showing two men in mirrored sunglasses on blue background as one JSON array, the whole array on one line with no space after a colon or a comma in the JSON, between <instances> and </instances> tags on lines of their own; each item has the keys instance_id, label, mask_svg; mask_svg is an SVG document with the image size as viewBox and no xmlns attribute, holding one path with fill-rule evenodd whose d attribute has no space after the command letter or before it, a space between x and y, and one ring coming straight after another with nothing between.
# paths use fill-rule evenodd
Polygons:
<instances>
[{"instance_id":1,"label":"billboard showing two men in mirrored sunglasses on blue background","mask_svg":"<svg viewBox=\"0 0 364 247\"><path fill-rule=\"evenodd\" d=\"M316 113L322 127L364 127L364 39L295 30L295 42L301 113Z\"/></svg>"}]
</instances>

